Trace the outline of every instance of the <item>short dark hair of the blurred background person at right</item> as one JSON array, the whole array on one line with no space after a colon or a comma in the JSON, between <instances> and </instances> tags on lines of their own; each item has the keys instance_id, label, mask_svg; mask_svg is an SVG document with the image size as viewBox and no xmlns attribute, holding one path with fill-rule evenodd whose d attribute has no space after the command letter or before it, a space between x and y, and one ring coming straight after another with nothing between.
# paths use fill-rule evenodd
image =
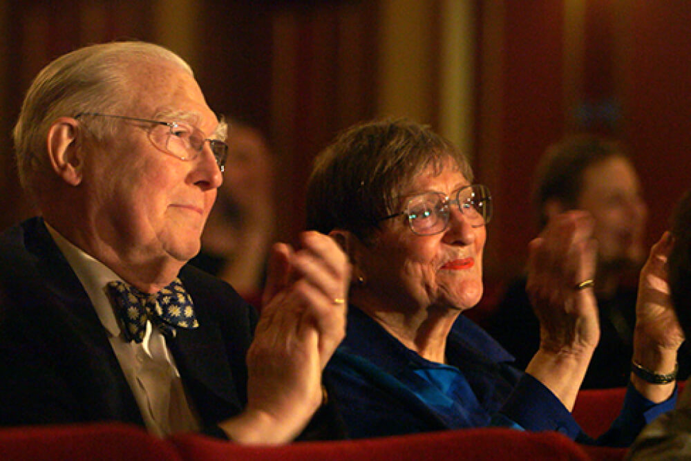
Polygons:
<instances>
[{"instance_id":1,"label":"short dark hair of the blurred background person at right","mask_svg":"<svg viewBox=\"0 0 691 461\"><path fill-rule=\"evenodd\" d=\"M540 227L547 224L547 200L556 199L566 207L576 207L585 169L612 156L628 158L618 142L592 134L573 135L548 147L538 162L533 190Z\"/></svg>"}]
</instances>

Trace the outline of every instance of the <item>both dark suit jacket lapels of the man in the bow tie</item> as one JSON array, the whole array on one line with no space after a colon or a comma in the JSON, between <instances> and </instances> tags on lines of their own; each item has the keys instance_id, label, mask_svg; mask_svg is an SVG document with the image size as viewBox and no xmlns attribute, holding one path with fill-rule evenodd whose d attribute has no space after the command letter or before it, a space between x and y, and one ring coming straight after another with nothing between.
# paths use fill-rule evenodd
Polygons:
<instances>
[{"instance_id":1,"label":"both dark suit jacket lapels of the man in the bow tie","mask_svg":"<svg viewBox=\"0 0 691 461\"><path fill-rule=\"evenodd\" d=\"M86 419L113 419L143 425L142 416L113 353L107 333L88 294L40 218L23 223L21 254L33 272L26 290L35 316L46 324L75 389ZM28 252L28 260L27 254ZM246 402L245 353L251 340L251 321L234 290L196 270L180 273L195 304L200 327L178 329L168 342L182 382L205 424L215 424L242 411ZM242 304L243 306L245 303ZM237 309L236 309L237 308ZM218 312L225 312L223 326ZM240 317L245 314L245 318ZM233 317L237 315L238 317ZM230 346L228 345L230 344ZM64 364L62 364L64 361Z\"/></svg>"}]
</instances>

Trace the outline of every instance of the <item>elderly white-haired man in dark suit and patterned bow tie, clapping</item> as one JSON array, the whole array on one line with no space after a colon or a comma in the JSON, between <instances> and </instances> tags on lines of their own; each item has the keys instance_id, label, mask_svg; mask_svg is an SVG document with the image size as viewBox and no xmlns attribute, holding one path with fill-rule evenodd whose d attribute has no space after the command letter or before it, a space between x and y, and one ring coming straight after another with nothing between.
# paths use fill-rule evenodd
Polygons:
<instances>
[{"instance_id":1,"label":"elderly white-haired man in dark suit and patterned bow tie, clapping","mask_svg":"<svg viewBox=\"0 0 691 461\"><path fill-rule=\"evenodd\" d=\"M1 424L117 420L245 443L305 429L343 338L348 263L314 232L276 245L258 320L186 264L225 132L160 46L88 46L39 73L14 135L41 217L0 237Z\"/></svg>"}]
</instances>

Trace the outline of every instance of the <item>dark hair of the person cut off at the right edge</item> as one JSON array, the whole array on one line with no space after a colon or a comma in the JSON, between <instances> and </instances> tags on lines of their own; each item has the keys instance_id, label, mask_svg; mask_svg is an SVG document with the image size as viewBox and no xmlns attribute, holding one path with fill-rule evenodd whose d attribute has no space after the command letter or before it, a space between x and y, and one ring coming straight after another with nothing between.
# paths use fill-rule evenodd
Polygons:
<instances>
[{"instance_id":1,"label":"dark hair of the person cut off at the right edge","mask_svg":"<svg viewBox=\"0 0 691 461\"><path fill-rule=\"evenodd\" d=\"M668 258L672 302L684 334L691 338L691 190L676 204L672 236L674 244Z\"/></svg>"}]
</instances>

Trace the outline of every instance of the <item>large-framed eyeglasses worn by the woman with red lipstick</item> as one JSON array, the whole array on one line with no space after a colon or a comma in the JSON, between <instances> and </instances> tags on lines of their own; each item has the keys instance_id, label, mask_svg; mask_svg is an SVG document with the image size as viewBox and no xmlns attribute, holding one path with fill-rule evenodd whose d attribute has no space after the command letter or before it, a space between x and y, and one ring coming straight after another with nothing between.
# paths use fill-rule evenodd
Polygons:
<instances>
[{"instance_id":1,"label":"large-framed eyeglasses worn by the woman with red lipstick","mask_svg":"<svg viewBox=\"0 0 691 461\"><path fill-rule=\"evenodd\" d=\"M381 220L395 218L404 214L408 216L408 224L413 234L419 236L435 235L444 232L448 227L448 207L457 205L463 216L473 227L481 227L489 223L492 218L492 196L486 186L475 184L461 187L451 193L455 197L450 200L442 192L425 192L410 197L406 209Z\"/></svg>"}]
</instances>

